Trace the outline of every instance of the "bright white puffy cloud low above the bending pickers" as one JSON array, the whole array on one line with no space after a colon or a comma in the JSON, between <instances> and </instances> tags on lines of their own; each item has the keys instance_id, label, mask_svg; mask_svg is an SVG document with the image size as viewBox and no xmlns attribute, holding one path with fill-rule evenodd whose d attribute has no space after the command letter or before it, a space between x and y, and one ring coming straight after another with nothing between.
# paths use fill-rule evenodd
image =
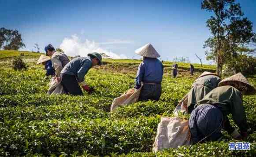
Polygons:
<instances>
[{"instance_id":1,"label":"bright white puffy cloud low above the bending pickers","mask_svg":"<svg viewBox=\"0 0 256 157\"><path fill-rule=\"evenodd\" d=\"M105 50L99 46L100 44L90 41L86 39L82 41L76 34L71 36L70 38L64 38L62 43L60 44L60 48L68 55L68 56L87 56L88 53L98 52L105 53L110 56L110 58L127 58L126 55L118 55L112 51Z\"/></svg>"}]
</instances>

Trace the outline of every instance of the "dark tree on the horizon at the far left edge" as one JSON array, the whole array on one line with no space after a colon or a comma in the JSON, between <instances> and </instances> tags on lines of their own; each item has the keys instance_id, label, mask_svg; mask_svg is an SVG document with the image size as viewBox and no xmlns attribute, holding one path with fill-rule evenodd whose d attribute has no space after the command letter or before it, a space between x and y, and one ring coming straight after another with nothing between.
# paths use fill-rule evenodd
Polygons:
<instances>
[{"instance_id":1,"label":"dark tree on the horizon at the far left edge","mask_svg":"<svg viewBox=\"0 0 256 157\"><path fill-rule=\"evenodd\" d=\"M19 50L26 47L18 30L0 28L0 49Z\"/></svg>"}]
</instances>

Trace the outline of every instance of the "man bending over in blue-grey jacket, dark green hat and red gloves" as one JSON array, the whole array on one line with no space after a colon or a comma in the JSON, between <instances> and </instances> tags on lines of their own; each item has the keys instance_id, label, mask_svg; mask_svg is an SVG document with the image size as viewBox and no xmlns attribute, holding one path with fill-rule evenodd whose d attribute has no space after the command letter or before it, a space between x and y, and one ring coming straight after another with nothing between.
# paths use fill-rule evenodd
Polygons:
<instances>
[{"instance_id":1,"label":"man bending over in blue-grey jacket, dark green hat and red gloves","mask_svg":"<svg viewBox=\"0 0 256 157\"><path fill-rule=\"evenodd\" d=\"M88 54L88 57L72 59L60 72L60 82L64 91L70 95L83 95L80 84L85 91L91 93L93 88L85 83L85 75L93 66L101 64L102 58L97 52Z\"/></svg>"}]
</instances>

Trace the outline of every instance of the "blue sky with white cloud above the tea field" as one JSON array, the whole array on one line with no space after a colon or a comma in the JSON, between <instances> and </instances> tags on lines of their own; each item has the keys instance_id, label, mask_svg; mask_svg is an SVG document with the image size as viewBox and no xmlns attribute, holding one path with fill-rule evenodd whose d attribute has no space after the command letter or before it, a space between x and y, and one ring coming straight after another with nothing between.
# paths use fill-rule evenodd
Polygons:
<instances>
[{"instance_id":1,"label":"blue sky with white cloud above the tea field","mask_svg":"<svg viewBox=\"0 0 256 157\"><path fill-rule=\"evenodd\" d=\"M239 0L256 31L256 0ZM68 55L106 52L118 58L140 58L134 50L151 43L162 60L204 58L210 36L201 0L0 0L0 27L18 29L31 51L53 44Z\"/></svg>"}]
</instances>

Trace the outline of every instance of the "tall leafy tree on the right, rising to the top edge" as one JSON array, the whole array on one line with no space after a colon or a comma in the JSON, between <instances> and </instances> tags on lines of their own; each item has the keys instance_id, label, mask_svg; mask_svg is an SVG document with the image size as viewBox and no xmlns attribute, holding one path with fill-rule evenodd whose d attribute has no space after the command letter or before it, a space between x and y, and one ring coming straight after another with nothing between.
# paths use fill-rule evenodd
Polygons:
<instances>
[{"instance_id":1,"label":"tall leafy tree on the right, rising to the top edge","mask_svg":"<svg viewBox=\"0 0 256 157\"><path fill-rule=\"evenodd\" d=\"M215 60L216 71L221 76L223 65L234 53L248 50L249 44L256 43L256 34L252 32L252 22L243 18L240 4L235 0L203 0L201 8L214 13L206 22L211 37L205 41L204 48L208 48L207 59Z\"/></svg>"}]
</instances>

